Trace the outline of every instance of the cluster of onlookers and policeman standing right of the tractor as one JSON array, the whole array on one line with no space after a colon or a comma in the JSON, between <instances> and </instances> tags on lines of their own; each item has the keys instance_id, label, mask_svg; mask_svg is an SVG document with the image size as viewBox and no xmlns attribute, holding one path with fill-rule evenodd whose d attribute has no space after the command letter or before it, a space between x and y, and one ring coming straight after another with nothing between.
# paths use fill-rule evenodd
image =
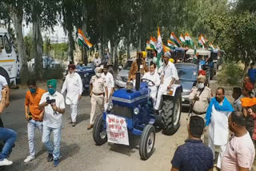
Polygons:
<instances>
[{"instance_id":1,"label":"cluster of onlookers and policeman standing right of the tractor","mask_svg":"<svg viewBox=\"0 0 256 171\"><path fill-rule=\"evenodd\" d=\"M213 170L215 148L218 147L218 170L250 170L254 163L256 140L256 97L254 63L242 88L234 87L233 105L225 97L225 89L218 88L212 97L205 86L206 77L198 76L197 86L190 93L189 138L180 145L171 161L172 171ZM208 147L203 145L208 127Z\"/></svg>"}]
</instances>

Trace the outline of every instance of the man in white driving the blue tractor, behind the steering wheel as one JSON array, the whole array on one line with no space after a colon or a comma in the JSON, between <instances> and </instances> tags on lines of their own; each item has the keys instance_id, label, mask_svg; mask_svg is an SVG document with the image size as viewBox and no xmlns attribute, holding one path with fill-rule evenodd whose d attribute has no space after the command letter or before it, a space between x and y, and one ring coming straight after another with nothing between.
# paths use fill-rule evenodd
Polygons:
<instances>
[{"instance_id":1,"label":"man in white driving the blue tractor, behind the steering wheel","mask_svg":"<svg viewBox=\"0 0 256 171\"><path fill-rule=\"evenodd\" d=\"M155 105L155 102L157 100L158 86L160 85L160 76L155 71L155 69L156 69L156 65L153 62L151 62L150 63L150 72L147 72L142 77L142 78L146 78L154 83L153 86L151 86L151 83L149 83L150 97L153 99L153 105Z\"/></svg>"}]
</instances>

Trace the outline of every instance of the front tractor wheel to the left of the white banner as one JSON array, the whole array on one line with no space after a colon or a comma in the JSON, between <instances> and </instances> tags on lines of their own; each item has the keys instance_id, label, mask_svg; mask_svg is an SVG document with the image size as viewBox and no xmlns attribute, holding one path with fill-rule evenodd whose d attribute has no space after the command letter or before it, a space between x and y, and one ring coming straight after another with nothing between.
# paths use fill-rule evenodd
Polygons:
<instances>
[{"instance_id":1,"label":"front tractor wheel to the left of the white banner","mask_svg":"<svg viewBox=\"0 0 256 171\"><path fill-rule=\"evenodd\" d=\"M107 141L106 129L104 129L103 115L98 114L94 122L93 137L96 145L103 145Z\"/></svg>"}]
</instances>

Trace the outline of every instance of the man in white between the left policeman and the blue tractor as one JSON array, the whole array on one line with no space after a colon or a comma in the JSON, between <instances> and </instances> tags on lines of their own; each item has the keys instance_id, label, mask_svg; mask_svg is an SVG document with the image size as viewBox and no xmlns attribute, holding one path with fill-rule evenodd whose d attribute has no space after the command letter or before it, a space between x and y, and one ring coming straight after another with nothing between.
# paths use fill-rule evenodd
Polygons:
<instances>
[{"instance_id":1,"label":"man in white between the left policeman and the blue tractor","mask_svg":"<svg viewBox=\"0 0 256 171\"><path fill-rule=\"evenodd\" d=\"M108 90L108 99L110 99L110 96L112 96L112 94L114 93L114 78L113 78L113 75L108 72L107 70L107 65L104 65L103 66L103 73L102 73L102 78L105 78L105 81L106 81L106 87L107 87L107 90ZM105 92L106 94L106 92ZM106 110L108 105L109 105L109 101L105 101L104 103L104 109Z\"/></svg>"}]
</instances>

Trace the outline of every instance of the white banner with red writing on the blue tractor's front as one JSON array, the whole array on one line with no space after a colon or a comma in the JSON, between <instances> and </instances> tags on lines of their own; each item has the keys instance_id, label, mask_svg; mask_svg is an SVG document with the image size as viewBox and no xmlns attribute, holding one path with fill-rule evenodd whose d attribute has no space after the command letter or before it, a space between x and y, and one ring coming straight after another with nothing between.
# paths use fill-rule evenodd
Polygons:
<instances>
[{"instance_id":1,"label":"white banner with red writing on the blue tractor's front","mask_svg":"<svg viewBox=\"0 0 256 171\"><path fill-rule=\"evenodd\" d=\"M107 140L115 144L129 145L126 119L114 114L106 115Z\"/></svg>"}]
</instances>

